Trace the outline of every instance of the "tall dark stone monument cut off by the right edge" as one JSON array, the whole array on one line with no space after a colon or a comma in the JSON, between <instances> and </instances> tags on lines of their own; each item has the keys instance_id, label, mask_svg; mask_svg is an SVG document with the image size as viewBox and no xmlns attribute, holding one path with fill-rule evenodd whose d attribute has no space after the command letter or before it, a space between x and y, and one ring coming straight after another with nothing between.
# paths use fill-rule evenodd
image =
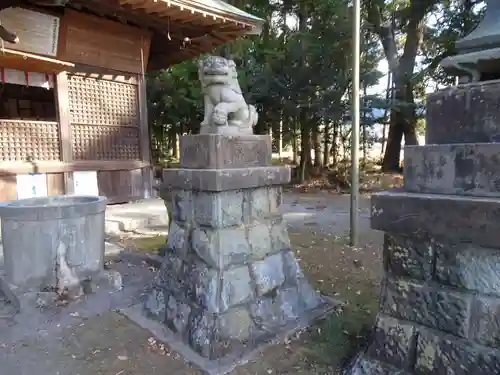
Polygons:
<instances>
[{"instance_id":1,"label":"tall dark stone monument cut off by the right edge","mask_svg":"<svg viewBox=\"0 0 500 375\"><path fill-rule=\"evenodd\" d=\"M488 1L443 61L469 83L429 95L404 188L372 198L372 228L385 232L380 313L346 374L500 374L499 14Z\"/></svg>"}]
</instances>

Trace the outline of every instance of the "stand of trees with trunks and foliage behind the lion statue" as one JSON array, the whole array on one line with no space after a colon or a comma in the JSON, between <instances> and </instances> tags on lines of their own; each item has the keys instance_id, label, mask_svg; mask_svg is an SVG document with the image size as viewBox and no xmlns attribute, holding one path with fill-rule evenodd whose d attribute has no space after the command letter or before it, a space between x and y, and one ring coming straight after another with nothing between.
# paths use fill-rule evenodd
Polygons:
<instances>
[{"instance_id":1,"label":"stand of trees with trunks and foliage behind the lion statue","mask_svg":"<svg viewBox=\"0 0 500 375\"><path fill-rule=\"evenodd\" d=\"M275 150L292 150L307 179L347 154L352 82L352 8L348 0L233 0L264 18L260 37L225 46L245 97L259 111L256 132ZM470 32L479 0L362 0L362 147L382 142L383 169L399 168L401 142L416 144L425 127L426 91L452 84L439 62ZM387 62L388 72L379 71ZM374 92L375 88L379 88ZM383 88L383 89L380 89ZM196 61L148 77L153 151L175 158L176 137L196 132L203 116ZM388 127L377 136L375 127Z\"/></svg>"}]
</instances>

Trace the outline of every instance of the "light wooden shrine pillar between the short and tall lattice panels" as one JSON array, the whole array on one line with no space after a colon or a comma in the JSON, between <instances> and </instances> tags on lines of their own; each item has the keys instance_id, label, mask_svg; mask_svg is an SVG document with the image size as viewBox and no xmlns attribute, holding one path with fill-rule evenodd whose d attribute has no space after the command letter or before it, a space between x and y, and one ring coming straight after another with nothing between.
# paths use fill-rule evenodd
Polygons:
<instances>
[{"instance_id":1,"label":"light wooden shrine pillar between the short and tall lattice panels","mask_svg":"<svg viewBox=\"0 0 500 375\"><path fill-rule=\"evenodd\" d=\"M61 148L61 161L69 163L73 159L71 149L71 129L69 113L69 93L68 93L68 74L61 72L56 76L55 92L57 104L57 117L59 121L59 142ZM73 173L64 173L64 191L66 194L72 194Z\"/></svg>"}]
</instances>

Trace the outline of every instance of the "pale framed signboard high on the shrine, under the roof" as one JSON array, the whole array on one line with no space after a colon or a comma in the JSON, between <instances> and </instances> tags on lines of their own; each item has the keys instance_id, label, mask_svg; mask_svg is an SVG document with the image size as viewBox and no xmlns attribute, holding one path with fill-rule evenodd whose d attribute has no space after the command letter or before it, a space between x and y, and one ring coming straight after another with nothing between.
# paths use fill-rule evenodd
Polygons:
<instances>
[{"instance_id":1,"label":"pale framed signboard high on the shrine, under the roof","mask_svg":"<svg viewBox=\"0 0 500 375\"><path fill-rule=\"evenodd\" d=\"M0 22L19 37L18 44L6 43L6 48L57 56L59 17L23 8L6 8L0 11Z\"/></svg>"}]
</instances>

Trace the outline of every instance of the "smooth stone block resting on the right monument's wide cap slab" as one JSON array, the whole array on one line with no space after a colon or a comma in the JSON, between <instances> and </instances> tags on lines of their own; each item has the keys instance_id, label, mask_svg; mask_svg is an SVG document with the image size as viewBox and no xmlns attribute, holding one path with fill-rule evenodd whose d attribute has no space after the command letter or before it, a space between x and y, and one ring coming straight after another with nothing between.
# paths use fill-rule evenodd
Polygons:
<instances>
[{"instance_id":1,"label":"smooth stone block resting on the right monument's wide cap slab","mask_svg":"<svg viewBox=\"0 0 500 375\"><path fill-rule=\"evenodd\" d=\"M405 147L406 191L500 197L500 143Z\"/></svg>"}]
</instances>

